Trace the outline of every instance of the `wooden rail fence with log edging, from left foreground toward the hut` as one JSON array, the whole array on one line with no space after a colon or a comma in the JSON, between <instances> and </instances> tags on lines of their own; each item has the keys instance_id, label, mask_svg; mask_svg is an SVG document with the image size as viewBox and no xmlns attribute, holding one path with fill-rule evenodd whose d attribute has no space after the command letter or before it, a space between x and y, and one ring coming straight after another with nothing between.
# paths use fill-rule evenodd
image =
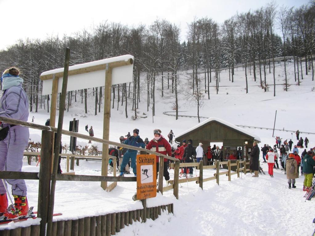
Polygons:
<instances>
[{"instance_id":1,"label":"wooden rail fence with log edging, from left foreground toward the hut","mask_svg":"<svg viewBox=\"0 0 315 236\"><path fill-rule=\"evenodd\" d=\"M112 214L107 214L106 216L93 216L93 217L85 217L79 220L68 220L68 221L58 221L52 222L52 217L49 219L49 212L53 212L53 209L50 209L51 199L49 198L50 191L50 181L54 173L51 174L52 169L52 161L51 157L53 155L53 144L52 141L54 137L54 132L57 131L54 127L37 125L34 123L23 122L15 119L3 118L0 117L0 121L4 121L6 123L23 125L26 127L34 128L34 129L42 129L42 150L40 153L41 156L41 165L39 173L32 172L12 172L12 171L0 171L0 178L6 179L37 179L39 180L39 188L38 188L38 213L37 217L41 218L40 225L32 225L26 228L16 228L11 230L1 231L1 235L110 235L115 234L115 232L119 232L121 227L126 225L127 219L128 223L132 223L133 220L146 222L146 218L152 218L153 220L157 218L160 214L161 210L165 210L168 208L168 212L174 212L173 204L168 206L158 206L146 208L146 199L141 200L143 209L138 209L132 211L132 213L128 212L117 212ZM52 131L50 131L52 130ZM54 132L53 132L54 131ZM150 154L154 154L159 156L159 174L158 174L158 186L157 191L163 195L163 191L168 191L173 189L173 194L176 199L178 196L178 186L184 182L192 182L196 181L196 184L199 184L201 188L203 188L203 182L216 179L216 183L219 184L220 175L228 176L228 180L231 180L231 175L237 174L239 177L239 173L241 171L246 174L249 171L247 169L249 162L246 161L237 161L237 163L231 163L230 161L225 162L215 162L215 166L203 166L203 162L200 163L180 163L178 159L162 155L160 153L144 150L142 148L137 148L134 146L129 146L121 143L116 143L108 140L103 140L95 137L90 137L84 134L78 134L74 132L70 132L67 130L61 130L62 134L70 135L73 137L83 138L86 140L93 140L101 143L107 143L109 145L121 146L137 151L145 151ZM35 153L38 155L38 153ZM30 154L31 155L31 154ZM63 154L61 154L63 155ZM69 156L68 156L69 157ZM84 157L85 158L85 157ZM89 157L90 158L90 157ZM170 167L174 168L174 179L169 183L170 185L163 187L163 159L167 158L169 160L175 161L175 163L171 163ZM114 159L115 160L115 159ZM116 161L114 161L114 169L116 171ZM227 165L227 171L220 172L220 164ZM243 164L243 167L240 165ZM237 171L231 173L231 166L237 166ZM67 165L69 166L69 164ZM199 169L199 176L192 178L179 179L179 171L181 167L197 167ZM216 168L216 173L214 173L213 177L203 178L203 170L204 169L214 169ZM55 174L54 178L57 181L110 181L112 184L117 184L117 182L135 182L136 177L116 177L116 176L95 176L95 175L65 175L65 174ZM132 196L134 200L136 196ZM128 217L126 217L126 215ZM132 215L132 217L131 217ZM124 219L124 220L123 220ZM131 220L130 220L131 219ZM46 225L49 223L51 226L51 230L46 232ZM117 223L119 222L119 223ZM124 222L124 224L122 223ZM92 227L91 227L92 225ZM95 226L95 227L94 227ZM109 229L110 228L110 229ZM84 233L83 233L84 232Z\"/></svg>"}]
</instances>

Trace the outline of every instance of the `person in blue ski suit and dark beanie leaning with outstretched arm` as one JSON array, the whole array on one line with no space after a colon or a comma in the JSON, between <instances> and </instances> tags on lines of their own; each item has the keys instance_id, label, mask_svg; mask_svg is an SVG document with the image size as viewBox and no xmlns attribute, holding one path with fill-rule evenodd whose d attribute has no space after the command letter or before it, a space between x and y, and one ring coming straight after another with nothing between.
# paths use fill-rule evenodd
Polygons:
<instances>
[{"instance_id":1,"label":"person in blue ski suit and dark beanie leaning with outstretched arm","mask_svg":"<svg viewBox=\"0 0 315 236\"><path fill-rule=\"evenodd\" d=\"M145 148L143 140L139 136L139 129L133 130L133 136L130 136L128 139L126 139L123 144L127 144L134 147L142 147ZM124 166L127 165L129 162L129 159L131 159L131 168L135 176L137 176L137 168L136 168L136 157L137 157L138 151L128 149L125 154L123 155L123 161L120 165L120 174L119 176L123 176Z\"/></svg>"}]
</instances>

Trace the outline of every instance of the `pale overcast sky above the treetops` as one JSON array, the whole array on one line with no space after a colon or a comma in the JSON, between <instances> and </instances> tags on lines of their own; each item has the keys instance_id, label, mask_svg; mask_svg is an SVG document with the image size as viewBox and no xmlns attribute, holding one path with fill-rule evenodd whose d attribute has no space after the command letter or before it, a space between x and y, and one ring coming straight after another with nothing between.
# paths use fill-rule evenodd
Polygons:
<instances>
[{"instance_id":1,"label":"pale overcast sky above the treetops","mask_svg":"<svg viewBox=\"0 0 315 236\"><path fill-rule=\"evenodd\" d=\"M83 28L108 20L128 25L151 24L166 19L180 25L181 39L186 23L208 16L223 23L237 12L266 6L267 0L0 0L2 35L0 50L18 39L45 39L47 36L71 35ZM278 7L300 7L309 0L277 0ZM0 59L1 60L1 59Z\"/></svg>"}]
</instances>

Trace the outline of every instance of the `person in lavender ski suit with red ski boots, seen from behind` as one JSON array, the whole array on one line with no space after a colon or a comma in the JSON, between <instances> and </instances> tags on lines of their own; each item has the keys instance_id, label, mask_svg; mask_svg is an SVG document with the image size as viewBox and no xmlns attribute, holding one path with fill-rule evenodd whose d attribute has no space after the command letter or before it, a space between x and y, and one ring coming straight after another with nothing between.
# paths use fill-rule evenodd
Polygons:
<instances>
[{"instance_id":1,"label":"person in lavender ski suit with red ski boots, seen from behind","mask_svg":"<svg viewBox=\"0 0 315 236\"><path fill-rule=\"evenodd\" d=\"M16 68L6 69L1 77L3 96L0 99L0 116L21 121L28 119L28 100L22 88L23 79L19 77ZM23 151L28 146L29 130L27 127L2 123L2 127L9 127L8 135L0 141L0 171L21 171L23 165ZM7 218L26 215L28 203L26 198L26 184L23 179L6 179L11 185L14 195L15 208L4 209L8 199L3 182L0 181L0 211Z\"/></svg>"}]
</instances>

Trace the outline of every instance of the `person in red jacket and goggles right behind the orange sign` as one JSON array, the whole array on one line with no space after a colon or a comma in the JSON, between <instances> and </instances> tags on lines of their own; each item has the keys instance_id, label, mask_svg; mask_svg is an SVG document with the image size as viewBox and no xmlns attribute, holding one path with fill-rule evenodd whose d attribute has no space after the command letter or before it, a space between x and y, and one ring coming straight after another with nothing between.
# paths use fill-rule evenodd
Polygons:
<instances>
[{"instance_id":1,"label":"person in red jacket and goggles right behind the orange sign","mask_svg":"<svg viewBox=\"0 0 315 236\"><path fill-rule=\"evenodd\" d=\"M154 138L146 145L146 149L156 151L163 155L172 156L172 148L169 142L161 135L160 129L153 130ZM166 181L169 180L169 172L167 170L167 159L164 159L164 168L163 168L163 176ZM159 156L156 156L156 167L157 172L159 170Z\"/></svg>"}]
</instances>

